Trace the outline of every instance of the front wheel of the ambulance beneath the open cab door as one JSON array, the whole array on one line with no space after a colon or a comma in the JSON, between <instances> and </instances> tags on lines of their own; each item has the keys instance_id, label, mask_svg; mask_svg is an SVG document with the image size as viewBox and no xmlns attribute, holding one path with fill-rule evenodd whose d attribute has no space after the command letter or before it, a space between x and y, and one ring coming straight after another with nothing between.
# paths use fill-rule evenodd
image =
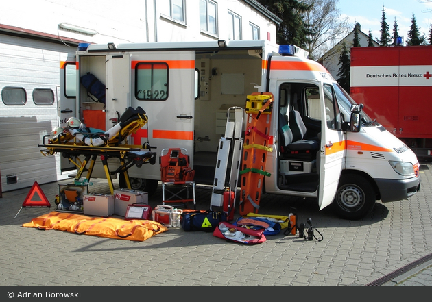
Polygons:
<instances>
[{"instance_id":1,"label":"front wheel of the ambulance beneath the open cab door","mask_svg":"<svg viewBox=\"0 0 432 302\"><path fill-rule=\"evenodd\" d=\"M341 218L358 220L372 211L375 199L374 188L367 179L360 175L342 175L333 208Z\"/></svg>"}]
</instances>

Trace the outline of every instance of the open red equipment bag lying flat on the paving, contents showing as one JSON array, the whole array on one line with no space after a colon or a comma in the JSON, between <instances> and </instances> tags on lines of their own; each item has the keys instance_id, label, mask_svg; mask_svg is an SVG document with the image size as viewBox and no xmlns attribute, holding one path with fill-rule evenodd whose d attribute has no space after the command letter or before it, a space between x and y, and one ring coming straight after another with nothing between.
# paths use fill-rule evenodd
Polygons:
<instances>
[{"instance_id":1,"label":"open red equipment bag lying flat on the paving, contents showing","mask_svg":"<svg viewBox=\"0 0 432 302\"><path fill-rule=\"evenodd\" d=\"M267 240L263 233L264 229L248 229L222 221L213 231L213 236L231 242L259 244Z\"/></svg>"}]
</instances>

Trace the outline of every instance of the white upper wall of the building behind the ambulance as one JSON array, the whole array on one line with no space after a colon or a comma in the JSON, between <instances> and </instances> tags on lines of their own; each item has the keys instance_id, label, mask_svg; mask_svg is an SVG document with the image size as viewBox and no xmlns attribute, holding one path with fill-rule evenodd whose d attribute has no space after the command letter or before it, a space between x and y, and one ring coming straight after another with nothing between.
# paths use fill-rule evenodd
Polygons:
<instances>
[{"instance_id":1,"label":"white upper wall of the building behind the ambulance","mask_svg":"<svg viewBox=\"0 0 432 302\"><path fill-rule=\"evenodd\" d=\"M200 31L200 0L186 0L184 23L161 14L168 0L14 0L1 4L0 23L86 42L170 42L185 40L228 40L228 10L241 16L242 40L252 40L249 23L260 27L261 39L276 42L274 21L241 0L219 0L218 34ZM62 29L61 23L91 29L94 35Z\"/></svg>"}]
</instances>

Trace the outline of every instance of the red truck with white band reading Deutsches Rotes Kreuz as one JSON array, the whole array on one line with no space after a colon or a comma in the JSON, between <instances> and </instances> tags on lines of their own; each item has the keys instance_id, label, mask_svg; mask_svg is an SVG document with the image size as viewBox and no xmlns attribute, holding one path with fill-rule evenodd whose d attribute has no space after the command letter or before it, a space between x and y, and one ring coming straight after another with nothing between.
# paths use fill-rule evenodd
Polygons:
<instances>
[{"instance_id":1,"label":"red truck with white band reading Deutsches Rotes Kreuz","mask_svg":"<svg viewBox=\"0 0 432 302\"><path fill-rule=\"evenodd\" d=\"M432 46L352 47L350 95L363 110L432 159Z\"/></svg>"}]
</instances>

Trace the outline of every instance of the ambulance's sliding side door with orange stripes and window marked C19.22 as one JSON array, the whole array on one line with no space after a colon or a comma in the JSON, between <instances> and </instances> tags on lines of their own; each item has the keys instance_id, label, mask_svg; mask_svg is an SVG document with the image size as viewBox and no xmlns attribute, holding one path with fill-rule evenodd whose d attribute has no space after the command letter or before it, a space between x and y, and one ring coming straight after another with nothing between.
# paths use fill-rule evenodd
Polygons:
<instances>
[{"instance_id":1,"label":"ambulance's sliding side door with orange stripes and window marked C19.22","mask_svg":"<svg viewBox=\"0 0 432 302\"><path fill-rule=\"evenodd\" d=\"M132 53L132 107L147 113L147 127L132 136L149 142L158 157L163 149L184 148L193 167L195 51ZM160 179L160 165L131 168L130 177Z\"/></svg>"}]
</instances>

